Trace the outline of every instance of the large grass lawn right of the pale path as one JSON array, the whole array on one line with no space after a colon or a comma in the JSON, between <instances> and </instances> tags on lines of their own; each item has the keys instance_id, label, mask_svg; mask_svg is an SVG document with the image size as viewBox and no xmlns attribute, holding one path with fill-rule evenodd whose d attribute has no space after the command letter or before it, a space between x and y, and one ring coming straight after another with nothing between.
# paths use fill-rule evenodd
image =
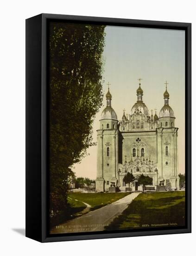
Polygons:
<instances>
[{"instance_id":1,"label":"large grass lawn right of the pale path","mask_svg":"<svg viewBox=\"0 0 196 256\"><path fill-rule=\"evenodd\" d=\"M167 223L168 226L184 226L184 217L184 191L142 193L105 229L149 228L154 227L153 224Z\"/></svg>"}]
</instances>

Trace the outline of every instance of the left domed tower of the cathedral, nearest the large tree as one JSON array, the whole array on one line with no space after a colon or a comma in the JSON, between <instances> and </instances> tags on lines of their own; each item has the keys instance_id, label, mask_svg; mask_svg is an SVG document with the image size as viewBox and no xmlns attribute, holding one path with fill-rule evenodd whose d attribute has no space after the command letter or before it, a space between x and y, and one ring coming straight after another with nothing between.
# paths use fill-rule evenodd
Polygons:
<instances>
[{"instance_id":1,"label":"left domed tower of the cathedral, nearest the large tree","mask_svg":"<svg viewBox=\"0 0 196 256\"><path fill-rule=\"evenodd\" d=\"M111 184L117 186L118 171L118 119L112 108L112 95L106 94L106 108L100 119L100 129L97 130L97 178L96 190L108 191Z\"/></svg>"}]
</instances>

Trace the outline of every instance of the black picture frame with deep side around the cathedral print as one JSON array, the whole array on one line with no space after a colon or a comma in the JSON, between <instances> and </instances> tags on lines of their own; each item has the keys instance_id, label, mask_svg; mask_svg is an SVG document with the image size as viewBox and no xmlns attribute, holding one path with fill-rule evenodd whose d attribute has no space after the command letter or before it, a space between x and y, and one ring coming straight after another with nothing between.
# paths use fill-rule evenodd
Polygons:
<instances>
[{"instance_id":1,"label":"black picture frame with deep side around the cathedral print","mask_svg":"<svg viewBox=\"0 0 196 256\"><path fill-rule=\"evenodd\" d=\"M119 230L63 235L48 231L48 59L50 20L128 27L181 29L185 31L185 168L186 226L156 230ZM127 236L191 232L191 24L59 14L39 14L26 20L26 236L39 242L57 242Z\"/></svg>"}]
</instances>

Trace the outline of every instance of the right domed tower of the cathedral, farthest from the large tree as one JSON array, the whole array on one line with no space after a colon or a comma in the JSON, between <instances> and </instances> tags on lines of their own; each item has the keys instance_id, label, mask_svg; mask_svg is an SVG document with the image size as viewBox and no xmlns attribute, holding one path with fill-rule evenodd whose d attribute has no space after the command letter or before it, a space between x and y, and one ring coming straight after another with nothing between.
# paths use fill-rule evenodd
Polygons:
<instances>
[{"instance_id":1,"label":"right domed tower of the cathedral, farthest from the large tree","mask_svg":"<svg viewBox=\"0 0 196 256\"><path fill-rule=\"evenodd\" d=\"M158 145L158 180L164 180L164 184L170 183L171 189L179 188L178 177L178 145L175 116L169 105L170 94L167 91L168 82L165 82L164 106L159 113L157 130Z\"/></svg>"}]
</instances>

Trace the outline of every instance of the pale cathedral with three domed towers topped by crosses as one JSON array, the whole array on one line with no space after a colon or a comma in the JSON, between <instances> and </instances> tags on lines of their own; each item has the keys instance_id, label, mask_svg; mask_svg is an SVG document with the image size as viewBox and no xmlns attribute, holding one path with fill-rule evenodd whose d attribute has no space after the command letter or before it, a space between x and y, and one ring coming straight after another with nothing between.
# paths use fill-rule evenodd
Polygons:
<instances>
[{"instance_id":1,"label":"pale cathedral with three domed towers topped by crosses","mask_svg":"<svg viewBox=\"0 0 196 256\"><path fill-rule=\"evenodd\" d=\"M112 108L109 87L107 105L101 113L100 129L97 130L97 178L96 190L108 191L109 187L126 190L123 181L127 172L135 177L132 191L141 190L138 177L152 177L152 185L146 189L156 190L164 181L166 189L179 189L177 130L175 116L169 105L170 94L164 92L164 106L155 114L149 113L143 101L141 79L137 89L137 101L131 112L119 121ZM148 188L149 187L149 188Z\"/></svg>"}]
</instances>

